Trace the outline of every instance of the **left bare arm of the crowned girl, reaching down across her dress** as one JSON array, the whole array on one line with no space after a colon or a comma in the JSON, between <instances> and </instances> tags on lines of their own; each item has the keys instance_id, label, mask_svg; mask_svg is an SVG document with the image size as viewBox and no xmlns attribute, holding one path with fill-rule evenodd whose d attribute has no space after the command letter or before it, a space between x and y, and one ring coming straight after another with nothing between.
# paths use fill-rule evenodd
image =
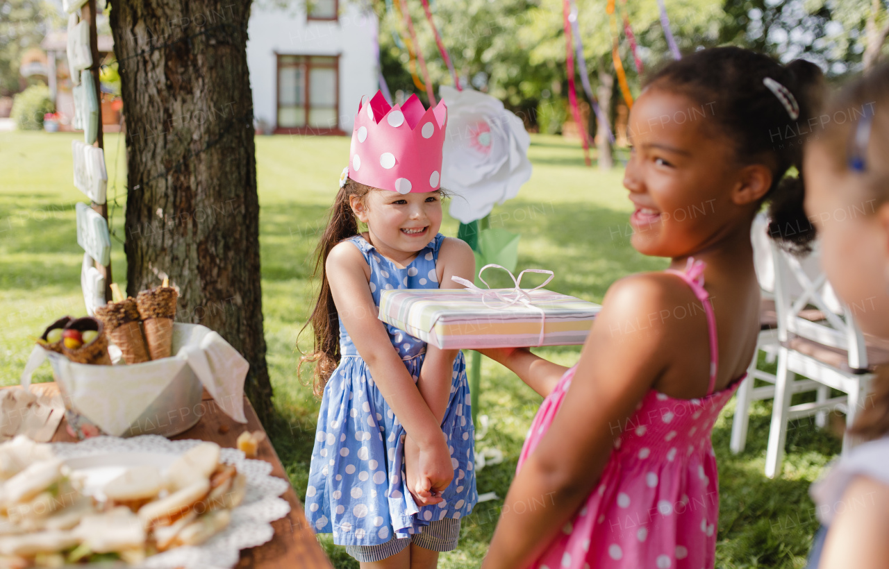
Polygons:
<instances>
[{"instance_id":1,"label":"left bare arm of the crowned girl, reaching down across her dress","mask_svg":"<svg viewBox=\"0 0 889 569\"><path fill-rule=\"evenodd\" d=\"M404 430L421 448L444 447L447 453L444 433L435 415L420 396L385 326L377 319L378 310L367 284L365 266L361 252L347 242L334 247L327 257L327 278L340 320ZM447 466L450 470L450 457ZM453 476L453 472L451 474Z\"/></svg>"}]
</instances>

